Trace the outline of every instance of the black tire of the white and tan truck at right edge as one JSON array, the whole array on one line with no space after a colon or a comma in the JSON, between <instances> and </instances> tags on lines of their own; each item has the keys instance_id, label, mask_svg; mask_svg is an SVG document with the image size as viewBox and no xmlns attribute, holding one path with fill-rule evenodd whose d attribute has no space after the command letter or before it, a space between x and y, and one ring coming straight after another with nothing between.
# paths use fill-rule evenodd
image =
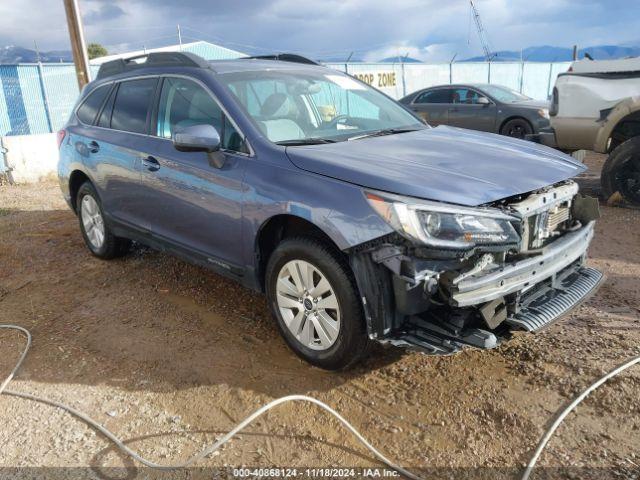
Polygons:
<instances>
[{"instance_id":1,"label":"black tire of the white and tan truck at right edge","mask_svg":"<svg viewBox=\"0 0 640 480\"><path fill-rule=\"evenodd\" d=\"M600 184L605 200L619 192L627 202L640 205L640 137L613 149L602 167Z\"/></svg>"}]
</instances>

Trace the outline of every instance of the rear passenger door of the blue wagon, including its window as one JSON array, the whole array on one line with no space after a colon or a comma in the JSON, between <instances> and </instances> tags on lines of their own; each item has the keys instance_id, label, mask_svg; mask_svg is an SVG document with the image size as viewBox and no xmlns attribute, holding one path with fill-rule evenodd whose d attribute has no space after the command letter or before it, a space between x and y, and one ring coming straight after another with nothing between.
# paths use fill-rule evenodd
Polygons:
<instances>
[{"instance_id":1,"label":"rear passenger door of the blue wagon, including its window","mask_svg":"<svg viewBox=\"0 0 640 480\"><path fill-rule=\"evenodd\" d=\"M145 232L137 190L140 151L157 83L157 77L147 77L114 84L84 146L107 219Z\"/></svg>"}]
</instances>

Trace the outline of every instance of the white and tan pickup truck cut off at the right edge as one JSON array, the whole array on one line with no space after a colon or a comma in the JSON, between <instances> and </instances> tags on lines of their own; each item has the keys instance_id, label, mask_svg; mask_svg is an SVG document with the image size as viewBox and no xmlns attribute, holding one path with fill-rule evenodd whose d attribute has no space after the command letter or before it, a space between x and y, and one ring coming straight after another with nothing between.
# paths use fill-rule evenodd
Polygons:
<instances>
[{"instance_id":1,"label":"white and tan pickup truck cut off at the right edge","mask_svg":"<svg viewBox=\"0 0 640 480\"><path fill-rule=\"evenodd\" d=\"M603 196L640 204L640 58L573 62L558 75L549 114L541 143L609 154Z\"/></svg>"}]
</instances>

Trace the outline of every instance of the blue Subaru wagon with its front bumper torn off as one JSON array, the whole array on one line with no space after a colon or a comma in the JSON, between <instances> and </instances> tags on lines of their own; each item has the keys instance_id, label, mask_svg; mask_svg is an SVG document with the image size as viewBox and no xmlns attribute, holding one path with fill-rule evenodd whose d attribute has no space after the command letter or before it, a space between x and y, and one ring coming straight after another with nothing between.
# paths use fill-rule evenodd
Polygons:
<instances>
[{"instance_id":1,"label":"blue Subaru wagon with its front bumper torn off","mask_svg":"<svg viewBox=\"0 0 640 480\"><path fill-rule=\"evenodd\" d=\"M450 354L537 330L591 293L597 203L543 146L431 128L293 56L150 54L101 66L59 133L91 252L132 240L265 292L302 358L372 340Z\"/></svg>"}]
</instances>

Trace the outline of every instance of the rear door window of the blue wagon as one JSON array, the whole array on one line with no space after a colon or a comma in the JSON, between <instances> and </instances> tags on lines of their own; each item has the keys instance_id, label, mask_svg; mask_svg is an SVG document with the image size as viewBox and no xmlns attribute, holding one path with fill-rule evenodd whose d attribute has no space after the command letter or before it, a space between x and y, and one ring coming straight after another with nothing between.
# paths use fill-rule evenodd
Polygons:
<instances>
[{"instance_id":1,"label":"rear door window of the blue wagon","mask_svg":"<svg viewBox=\"0 0 640 480\"><path fill-rule=\"evenodd\" d=\"M113 105L111 128L125 132L146 133L147 113L156 83L156 78L121 82Z\"/></svg>"}]
</instances>

